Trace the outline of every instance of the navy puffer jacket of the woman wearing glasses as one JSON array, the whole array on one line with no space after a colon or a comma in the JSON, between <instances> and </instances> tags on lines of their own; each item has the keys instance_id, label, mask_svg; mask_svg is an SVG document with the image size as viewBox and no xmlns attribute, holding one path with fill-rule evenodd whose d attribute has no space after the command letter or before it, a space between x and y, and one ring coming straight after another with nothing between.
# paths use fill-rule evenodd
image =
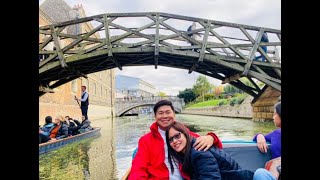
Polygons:
<instances>
[{"instance_id":1,"label":"navy puffer jacket of the woman wearing glasses","mask_svg":"<svg viewBox=\"0 0 320 180\"><path fill-rule=\"evenodd\" d=\"M192 140L192 145L195 139ZM242 170L229 154L212 146L208 151L191 148L192 179L252 180L253 172Z\"/></svg>"}]
</instances>

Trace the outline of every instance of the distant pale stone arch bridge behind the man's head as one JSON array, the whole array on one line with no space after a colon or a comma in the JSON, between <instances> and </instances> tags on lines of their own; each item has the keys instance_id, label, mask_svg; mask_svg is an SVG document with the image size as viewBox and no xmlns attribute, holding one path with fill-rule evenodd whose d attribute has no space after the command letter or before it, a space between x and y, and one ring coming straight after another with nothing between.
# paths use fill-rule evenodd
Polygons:
<instances>
[{"instance_id":1,"label":"distant pale stone arch bridge behind the man's head","mask_svg":"<svg viewBox=\"0 0 320 180\"><path fill-rule=\"evenodd\" d=\"M155 96L155 97L135 97L135 98L116 98L115 100L115 111L116 116L123 116L126 112L131 109L141 107L141 106L154 106L158 101L162 99L167 99L172 102L174 110L176 113L181 113L183 106L185 105L183 98L178 98L176 96Z\"/></svg>"}]
</instances>

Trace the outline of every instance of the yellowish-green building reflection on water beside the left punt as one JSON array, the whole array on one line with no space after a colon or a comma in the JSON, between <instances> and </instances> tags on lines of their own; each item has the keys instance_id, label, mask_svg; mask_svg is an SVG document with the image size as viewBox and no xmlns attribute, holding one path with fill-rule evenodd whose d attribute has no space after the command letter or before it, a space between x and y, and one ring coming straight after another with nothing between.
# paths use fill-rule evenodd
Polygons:
<instances>
[{"instance_id":1,"label":"yellowish-green building reflection on water beside the left punt","mask_svg":"<svg viewBox=\"0 0 320 180\"><path fill-rule=\"evenodd\" d=\"M100 136L39 156L39 179L117 179L114 119L93 121Z\"/></svg>"}]
</instances>

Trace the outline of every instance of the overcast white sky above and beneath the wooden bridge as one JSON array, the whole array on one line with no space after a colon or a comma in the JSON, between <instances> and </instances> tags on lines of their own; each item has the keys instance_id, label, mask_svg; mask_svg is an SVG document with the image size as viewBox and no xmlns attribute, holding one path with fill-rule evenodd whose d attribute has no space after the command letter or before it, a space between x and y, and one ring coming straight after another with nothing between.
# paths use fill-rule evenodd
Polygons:
<instances>
[{"instance_id":1,"label":"overcast white sky above and beneath the wooden bridge","mask_svg":"<svg viewBox=\"0 0 320 180\"><path fill-rule=\"evenodd\" d=\"M43 0L39 0L41 4ZM86 15L126 12L164 12L217 21L281 30L280 0L65 0L70 7L82 4ZM151 83L167 95L191 88L199 73L158 66L123 67L116 74L133 76ZM207 77L216 85L220 80Z\"/></svg>"}]
</instances>

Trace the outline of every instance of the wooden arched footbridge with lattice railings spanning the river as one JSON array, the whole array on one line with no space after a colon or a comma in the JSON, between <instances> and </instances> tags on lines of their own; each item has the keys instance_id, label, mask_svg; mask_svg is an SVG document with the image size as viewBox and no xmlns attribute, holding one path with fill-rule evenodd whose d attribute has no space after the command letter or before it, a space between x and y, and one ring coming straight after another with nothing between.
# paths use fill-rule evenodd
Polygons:
<instances>
[{"instance_id":1,"label":"wooden arched footbridge with lattice railings spanning the river","mask_svg":"<svg viewBox=\"0 0 320 180\"><path fill-rule=\"evenodd\" d=\"M92 30L80 31L87 22ZM254 97L262 89L253 79L281 91L277 29L159 12L107 13L39 27L39 37L39 95L89 73L144 65L196 71Z\"/></svg>"}]
</instances>

